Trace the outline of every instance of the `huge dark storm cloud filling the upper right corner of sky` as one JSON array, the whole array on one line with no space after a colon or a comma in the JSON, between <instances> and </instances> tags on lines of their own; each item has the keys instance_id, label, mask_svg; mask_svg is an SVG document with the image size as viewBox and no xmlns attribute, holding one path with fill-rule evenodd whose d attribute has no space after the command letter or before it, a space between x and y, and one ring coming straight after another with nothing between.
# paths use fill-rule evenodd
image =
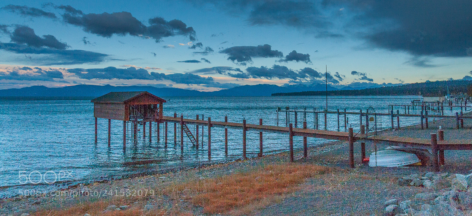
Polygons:
<instances>
[{"instance_id":1,"label":"huge dark storm cloud filling the upper right corner of sky","mask_svg":"<svg viewBox=\"0 0 472 216\"><path fill-rule=\"evenodd\" d=\"M354 27L373 27L364 38L375 47L415 56L467 56L472 47L472 1L327 0L357 13Z\"/></svg>"}]
</instances>

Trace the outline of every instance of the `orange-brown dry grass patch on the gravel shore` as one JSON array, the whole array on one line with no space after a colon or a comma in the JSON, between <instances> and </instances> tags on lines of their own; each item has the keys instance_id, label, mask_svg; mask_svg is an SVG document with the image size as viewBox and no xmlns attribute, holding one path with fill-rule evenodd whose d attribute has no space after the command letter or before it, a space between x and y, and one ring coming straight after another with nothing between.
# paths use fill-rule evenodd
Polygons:
<instances>
[{"instance_id":1,"label":"orange-brown dry grass patch on the gravel shore","mask_svg":"<svg viewBox=\"0 0 472 216\"><path fill-rule=\"evenodd\" d=\"M190 200L194 205L203 206L204 213L246 215L282 200L284 194L295 191L305 178L328 170L314 165L269 165L248 173L173 185L166 193L174 199Z\"/></svg>"}]
</instances>

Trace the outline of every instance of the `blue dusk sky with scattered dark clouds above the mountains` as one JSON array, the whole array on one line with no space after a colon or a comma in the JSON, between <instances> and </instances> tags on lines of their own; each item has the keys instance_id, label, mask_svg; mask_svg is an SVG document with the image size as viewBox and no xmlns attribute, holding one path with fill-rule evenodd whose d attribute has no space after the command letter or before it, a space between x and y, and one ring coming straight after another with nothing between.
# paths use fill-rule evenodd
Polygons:
<instances>
[{"instance_id":1,"label":"blue dusk sky with scattered dark clouds above the mountains","mask_svg":"<svg viewBox=\"0 0 472 216\"><path fill-rule=\"evenodd\" d=\"M1 0L0 17L0 89L472 79L466 0Z\"/></svg>"}]
</instances>

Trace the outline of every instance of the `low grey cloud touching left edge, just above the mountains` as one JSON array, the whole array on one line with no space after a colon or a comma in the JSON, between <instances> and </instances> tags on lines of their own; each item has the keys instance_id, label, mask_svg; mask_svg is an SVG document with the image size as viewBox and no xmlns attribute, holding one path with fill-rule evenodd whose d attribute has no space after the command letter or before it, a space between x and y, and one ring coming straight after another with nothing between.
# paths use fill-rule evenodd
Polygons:
<instances>
[{"instance_id":1,"label":"low grey cloud touching left edge, just above the mountains","mask_svg":"<svg viewBox=\"0 0 472 216\"><path fill-rule=\"evenodd\" d=\"M20 73L19 70L28 71L28 73ZM28 80L28 81L51 81L51 82L66 82L65 80L54 80L56 79L64 79L62 72L57 70L37 70L33 71L32 68L23 67L19 68L19 70L12 70L7 71L7 73L0 74L0 80Z\"/></svg>"}]
</instances>

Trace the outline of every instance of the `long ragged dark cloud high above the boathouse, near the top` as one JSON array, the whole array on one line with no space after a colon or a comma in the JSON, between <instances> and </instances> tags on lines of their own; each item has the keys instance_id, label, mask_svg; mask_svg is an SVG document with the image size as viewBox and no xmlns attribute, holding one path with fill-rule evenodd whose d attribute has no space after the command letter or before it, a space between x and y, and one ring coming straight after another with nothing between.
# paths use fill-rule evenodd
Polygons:
<instances>
[{"instance_id":1,"label":"long ragged dark cloud high above the boathouse, near the top","mask_svg":"<svg viewBox=\"0 0 472 216\"><path fill-rule=\"evenodd\" d=\"M115 12L102 14L84 14L82 11L70 6L63 7L66 13L62 18L66 23L80 26L85 32L90 32L102 37L110 38L113 34L132 35L142 38L152 38L160 42L162 38L176 35L188 36L190 40L195 40L195 31L192 27L177 19L166 21L162 17L154 17L148 20L149 26L144 25L131 13Z\"/></svg>"}]
</instances>

